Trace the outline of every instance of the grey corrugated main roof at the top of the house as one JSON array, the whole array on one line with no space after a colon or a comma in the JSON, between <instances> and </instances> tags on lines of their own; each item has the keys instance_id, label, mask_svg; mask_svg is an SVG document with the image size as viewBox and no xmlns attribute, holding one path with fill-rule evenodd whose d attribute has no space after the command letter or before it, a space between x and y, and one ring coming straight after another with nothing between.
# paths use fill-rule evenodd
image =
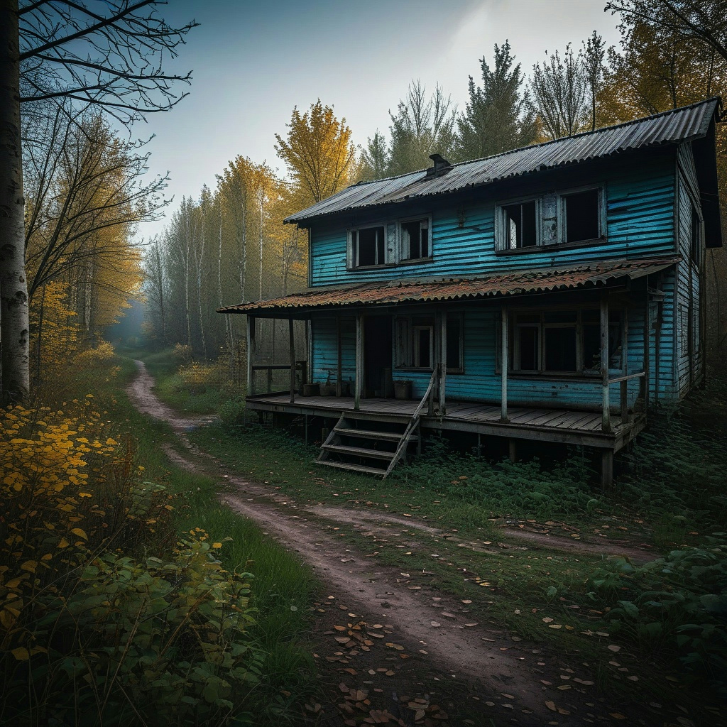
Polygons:
<instances>
[{"instance_id":1,"label":"grey corrugated main roof at the top of the house","mask_svg":"<svg viewBox=\"0 0 727 727\"><path fill-rule=\"evenodd\" d=\"M426 169L422 169L401 177L353 185L292 214L285 222L304 222L334 212L446 194L624 151L699 139L707 134L719 103L718 98L712 98L646 119L606 126L595 132L576 134L484 159L463 161L452 165L440 177L427 177Z\"/></svg>"}]
</instances>

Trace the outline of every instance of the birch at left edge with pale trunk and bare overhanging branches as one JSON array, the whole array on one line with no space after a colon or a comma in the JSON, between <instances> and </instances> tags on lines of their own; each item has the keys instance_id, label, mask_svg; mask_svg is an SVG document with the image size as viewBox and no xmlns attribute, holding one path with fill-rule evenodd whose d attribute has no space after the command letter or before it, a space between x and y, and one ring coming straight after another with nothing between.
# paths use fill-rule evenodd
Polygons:
<instances>
[{"instance_id":1,"label":"birch at left edge with pale trunk and bare overhanging branches","mask_svg":"<svg viewBox=\"0 0 727 727\"><path fill-rule=\"evenodd\" d=\"M20 107L71 100L102 108L122 123L167 111L184 94L162 59L196 23L172 28L157 0L0 1L0 395L28 393L28 291L23 235Z\"/></svg>"}]
</instances>

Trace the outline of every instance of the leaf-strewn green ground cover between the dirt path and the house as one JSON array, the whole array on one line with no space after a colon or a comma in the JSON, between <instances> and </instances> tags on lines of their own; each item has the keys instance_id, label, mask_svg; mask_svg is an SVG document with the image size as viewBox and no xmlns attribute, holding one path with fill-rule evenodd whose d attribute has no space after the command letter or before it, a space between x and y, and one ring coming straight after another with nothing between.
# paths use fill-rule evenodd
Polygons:
<instances>
[{"instance_id":1,"label":"leaf-strewn green ground cover between the dirt path and the house","mask_svg":"<svg viewBox=\"0 0 727 727\"><path fill-rule=\"evenodd\" d=\"M512 465L454 455L446 442L430 441L423 457L379 481L319 467L316 447L281 430L212 425L193 433L193 440L238 473L296 499L411 515L451 531L460 542L494 540L497 524L507 518L546 525L555 534L651 542L666 553L704 546L705 537L726 520L726 402L725 389L717 386L685 407L652 415L650 431L622 457L625 466L608 494L591 489L588 462L578 456L548 466ZM345 526L341 531L371 552L370 540ZM635 698L646 689L656 701L678 701L693 713L703 703L707 720L713 717L710 691L694 682L686 689L673 639L648 637L638 624L622 628L622 618L608 617L612 609L623 610L617 599L627 598L628 585L593 593L593 579L607 565L603 558L539 547L483 554L420 531L415 537L425 544L409 555L380 539L374 552L385 563L412 575L417 571L435 587L473 601L478 619L505 625L517 638L579 654L611 693ZM622 646L616 666L606 648L611 643ZM623 668L638 675L638 682L627 680Z\"/></svg>"}]
</instances>

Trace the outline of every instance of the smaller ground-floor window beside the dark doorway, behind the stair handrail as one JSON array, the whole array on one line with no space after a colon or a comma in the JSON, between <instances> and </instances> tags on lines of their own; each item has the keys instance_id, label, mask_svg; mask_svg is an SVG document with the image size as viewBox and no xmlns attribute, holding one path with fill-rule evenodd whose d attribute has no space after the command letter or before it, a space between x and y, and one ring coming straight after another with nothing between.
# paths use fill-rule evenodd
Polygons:
<instances>
[{"instance_id":1,"label":"smaller ground-floor window beside the dark doorway, behind the stair handrail","mask_svg":"<svg viewBox=\"0 0 727 727\"><path fill-rule=\"evenodd\" d=\"M448 371L462 370L462 332L462 316L447 316ZM398 316L395 319L395 366L399 369L433 369L437 341L433 316Z\"/></svg>"}]
</instances>

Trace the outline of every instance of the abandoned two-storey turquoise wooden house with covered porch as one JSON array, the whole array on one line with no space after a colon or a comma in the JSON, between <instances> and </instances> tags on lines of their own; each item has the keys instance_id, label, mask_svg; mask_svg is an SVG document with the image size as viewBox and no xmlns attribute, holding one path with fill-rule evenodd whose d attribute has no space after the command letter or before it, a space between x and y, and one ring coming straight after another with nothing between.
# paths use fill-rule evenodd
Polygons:
<instances>
[{"instance_id":1,"label":"abandoned two-storey turquoise wooden house with covered porch","mask_svg":"<svg viewBox=\"0 0 727 727\"><path fill-rule=\"evenodd\" d=\"M720 108L462 164L434 154L289 217L309 230L308 289L220 309L247 316L247 407L329 422L334 467L386 475L427 430L459 431L513 457L523 440L593 447L608 485L649 407L704 377ZM289 321L288 364L256 366L257 318ZM281 366L290 387L261 392L257 372Z\"/></svg>"}]
</instances>

